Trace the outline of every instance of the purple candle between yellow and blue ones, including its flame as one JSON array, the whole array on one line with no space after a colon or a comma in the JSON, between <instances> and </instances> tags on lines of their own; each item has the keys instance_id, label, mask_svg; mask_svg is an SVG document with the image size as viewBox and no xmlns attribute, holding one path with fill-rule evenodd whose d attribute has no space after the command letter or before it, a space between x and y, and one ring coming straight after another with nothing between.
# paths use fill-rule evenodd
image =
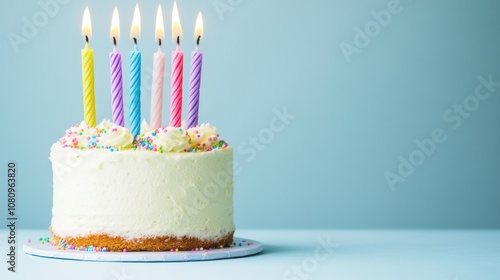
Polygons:
<instances>
[{"instance_id":1,"label":"purple candle between yellow and blue ones, including its flame","mask_svg":"<svg viewBox=\"0 0 500 280\"><path fill-rule=\"evenodd\" d=\"M124 126L123 119L123 86L122 86L122 55L116 49L116 42L120 39L120 19L118 9L115 7L111 19L111 39L113 40L113 51L109 53L111 66L111 112L113 122Z\"/></svg>"}]
</instances>

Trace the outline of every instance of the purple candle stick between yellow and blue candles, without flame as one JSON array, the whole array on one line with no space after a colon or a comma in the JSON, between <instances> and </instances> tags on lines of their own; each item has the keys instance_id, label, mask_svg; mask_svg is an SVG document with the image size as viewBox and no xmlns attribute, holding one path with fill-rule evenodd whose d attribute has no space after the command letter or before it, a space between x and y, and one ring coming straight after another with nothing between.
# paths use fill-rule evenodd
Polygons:
<instances>
[{"instance_id":1,"label":"purple candle stick between yellow and blue candles, without flame","mask_svg":"<svg viewBox=\"0 0 500 280\"><path fill-rule=\"evenodd\" d=\"M122 81L122 56L118 52L109 54L111 64L111 108L113 122L124 126L123 117L123 81Z\"/></svg>"}]
</instances>

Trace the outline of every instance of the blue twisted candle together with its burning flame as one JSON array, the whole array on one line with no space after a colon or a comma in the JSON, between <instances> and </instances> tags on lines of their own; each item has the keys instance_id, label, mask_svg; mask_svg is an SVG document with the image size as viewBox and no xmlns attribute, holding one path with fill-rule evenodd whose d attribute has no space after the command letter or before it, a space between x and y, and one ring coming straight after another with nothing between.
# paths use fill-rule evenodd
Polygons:
<instances>
[{"instance_id":1,"label":"blue twisted candle together with its burning flame","mask_svg":"<svg viewBox=\"0 0 500 280\"><path fill-rule=\"evenodd\" d=\"M134 40L134 50L130 52L130 133L134 138L141 130L141 53L137 49L137 39L141 36L141 15L136 4L130 37Z\"/></svg>"}]
</instances>

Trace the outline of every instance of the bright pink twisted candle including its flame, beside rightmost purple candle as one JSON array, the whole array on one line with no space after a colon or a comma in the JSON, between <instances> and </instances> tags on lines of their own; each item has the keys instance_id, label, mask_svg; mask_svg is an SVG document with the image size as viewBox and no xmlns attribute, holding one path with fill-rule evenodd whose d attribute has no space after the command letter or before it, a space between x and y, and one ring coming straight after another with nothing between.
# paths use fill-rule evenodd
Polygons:
<instances>
[{"instance_id":1,"label":"bright pink twisted candle including its flame, beside rightmost purple candle","mask_svg":"<svg viewBox=\"0 0 500 280\"><path fill-rule=\"evenodd\" d=\"M184 53L180 50L182 39L182 28L177 11L177 3L174 1L172 10L172 40L177 44L175 51L172 51L172 75L170 79L170 126L181 126L182 112L182 71L184 63Z\"/></svg>"}]
</instances>

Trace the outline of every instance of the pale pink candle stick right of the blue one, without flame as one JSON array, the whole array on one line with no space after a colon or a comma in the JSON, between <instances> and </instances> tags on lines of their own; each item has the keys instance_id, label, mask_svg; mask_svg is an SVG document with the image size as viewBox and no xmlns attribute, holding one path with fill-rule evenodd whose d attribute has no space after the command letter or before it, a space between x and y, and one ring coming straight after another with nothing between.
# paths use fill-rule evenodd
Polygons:
<instances>
[{"instance_id":1,"label":"pale pink candle stick right of the blue one, without flame","mask_svg":"<svg viewBox=\"0 0 500 280\"><path fill-rule=\"evenodd\" d=\"M165 54L156 52L153 61L153 85L151 87L151 129L161 127L163 103L163 78L165 75Z\"/></svg>"}]
</instances>

